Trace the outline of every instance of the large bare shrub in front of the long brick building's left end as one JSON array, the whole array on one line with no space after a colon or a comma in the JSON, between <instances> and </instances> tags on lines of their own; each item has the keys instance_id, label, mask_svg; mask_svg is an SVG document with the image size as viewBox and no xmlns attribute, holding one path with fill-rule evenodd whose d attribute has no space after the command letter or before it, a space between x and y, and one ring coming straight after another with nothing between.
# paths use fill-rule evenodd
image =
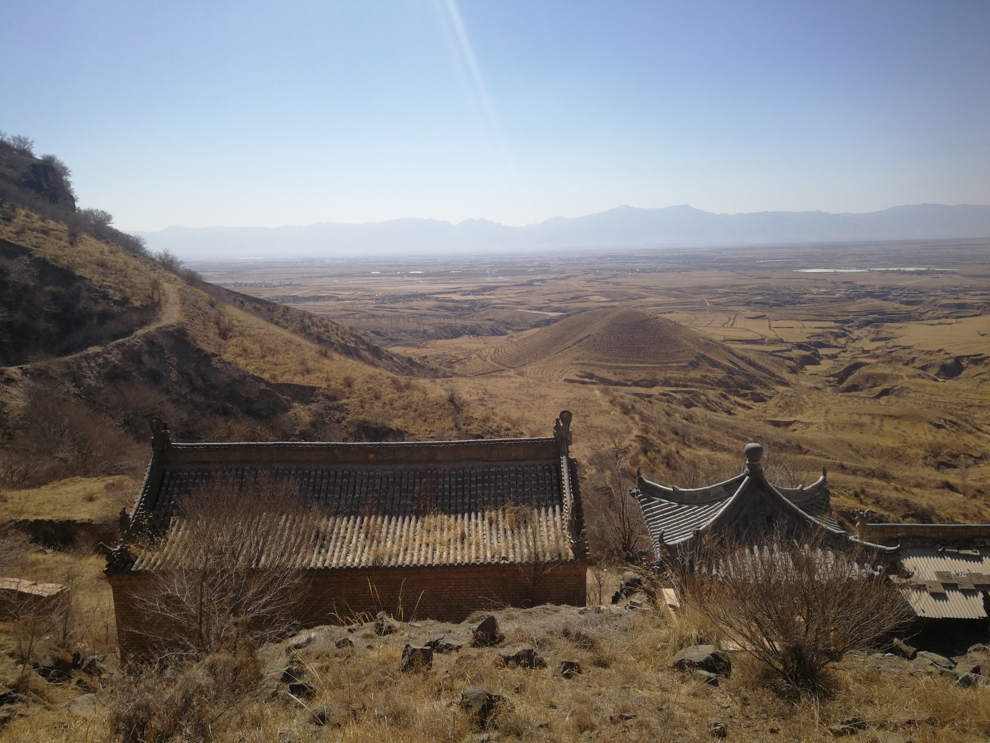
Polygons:
<instances>
[{"instance_id":1,"label":"large bare shrub in front of the long brick building's left end","mask_svg":"<svg viewBox=\"0 0 990 743\"><path fill-rule=\"evenodd\" d=\"M317 519L297 493L265 473L218 476L176 503L169 533L144 548L154 567L128 628L154 659L252 651L293 623Z\"/></svg>"}]
</instances>

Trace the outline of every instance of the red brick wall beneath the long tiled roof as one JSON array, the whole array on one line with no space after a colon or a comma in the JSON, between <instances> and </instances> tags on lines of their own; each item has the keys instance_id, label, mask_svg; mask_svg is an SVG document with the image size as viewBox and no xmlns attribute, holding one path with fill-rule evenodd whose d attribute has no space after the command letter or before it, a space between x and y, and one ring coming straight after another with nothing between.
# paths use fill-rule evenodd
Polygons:
<instances>
[{"instance_id":1,"label":"red brick wall beneath the long tiled roof","mask_svg":"<svg viewBox=\"0 0 990 743\"><path fill-rule=\"evenodd\" d=\"M477 609L506 605L583 606L586 571L584 565L558 565L536 581L531 568L511 565L313 572L299 597L299 618L315 626L386 611L404 621L429 618L459 622ZM110 577L122 655L140 648L140 638L129 635L128 628L141 621L132 595L144 583L140 575Z\"/></svg>"}]
</instances>

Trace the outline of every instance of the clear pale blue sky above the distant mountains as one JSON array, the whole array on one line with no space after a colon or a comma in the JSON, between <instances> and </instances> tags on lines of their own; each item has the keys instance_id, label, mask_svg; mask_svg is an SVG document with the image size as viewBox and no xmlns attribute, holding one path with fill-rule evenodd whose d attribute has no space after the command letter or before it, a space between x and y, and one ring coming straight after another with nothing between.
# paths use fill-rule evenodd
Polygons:
<instances>
[{"instance_id":1,"label":"clear pale blue sky above the distant mountains","mask_svg":"<svg viewBox=\"0 0 990 743\"><path fill-rule=\"evenodd\" d=\"M125 229L990 203L990 1L4 0Z\"/></svg>"}]
</instances>

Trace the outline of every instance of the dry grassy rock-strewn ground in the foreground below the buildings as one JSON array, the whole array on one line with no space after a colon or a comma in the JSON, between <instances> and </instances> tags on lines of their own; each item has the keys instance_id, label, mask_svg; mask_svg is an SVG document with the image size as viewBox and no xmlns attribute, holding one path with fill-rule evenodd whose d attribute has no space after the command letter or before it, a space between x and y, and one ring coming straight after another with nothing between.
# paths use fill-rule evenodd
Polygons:
<instances>
[{"instance_id":1,"label":"dry grassy rock-strewn ground in the foreground below the buildings","mask_svg":"<svg viewBox=\"0 0 990 743\"><path fill-rule=\"evenodd\" d=\"M391 608L391 607L389 607ZM719 687L692 681L668 667L677 650L718 641L690 615L668 621L648 611L606 608L579 614L572 606L537 606L495 612L505 639L493 648L469 646L469 623L397 623L383 637L370 624L353 632L318 627L262 651L264 682L253 697L231 694L214 719L218 743L278 743L286 740L385 741L616 741L674 743L717 740L714 721L728 740L835 740L829 725L856 716L867 720L866 741L970 743L986 740L990 694L964 689L951 680L914 674L899 658L849 655L835 671L837 693L826 700L787 701L768 687L760 668L744 653L732 652L732 675ZM476 622L479 617L475 617ZM459 651L434 656L422 672L398 671L402 648L446 636ZM546 667L506 667L500 652L535 646ZM0 656L0 679L16 669ZM561 660L577 661L581 674L570 679L555 671ZM292 698L284 671L312 688ZM219 676L219 674L218 674ZM82 674L78 674L86 681ZM222 678L222 677L221 677ZM97 690L87 711L64 702L81 694L71 684L48 685L33 678L39 701L30 715L15 717L4 730L16 741L112 740L110 713L117 703L112 686ZM215 682L220 684L221 682ZM460 707L462 690L480 687L502 696L489 730L477 731ZM298 691L298 690L297 690ZM151 708L168 703L146 698ZM900 713L921 710L918 722ZM22 706L19 711L24 711ZM323 712L328 724L314 723Z\"/></svg>"}]
</instances>

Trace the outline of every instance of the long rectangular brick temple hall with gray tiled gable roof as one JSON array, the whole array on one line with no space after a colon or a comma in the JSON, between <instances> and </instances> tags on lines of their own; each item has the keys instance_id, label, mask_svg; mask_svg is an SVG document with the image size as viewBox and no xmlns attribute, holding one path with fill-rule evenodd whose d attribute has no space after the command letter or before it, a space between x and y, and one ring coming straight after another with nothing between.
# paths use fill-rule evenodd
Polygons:
<instances>
[{"instance_id":1,"label":"long rectangular brick temple hall with gray tiled gable roof","mask_svg":"<svg viewBox=\"0 0 990 743\"><path fill-rule=\"evenodd\" d=\"M461 621L493 605L584 605L570 422L562 411L544 438L182 444L153 419L148 473L106 571L121 646L140 644L135 596L169 570L169 550L181 544L177 504L218 475L264 475L279 497L288 483L289 496L308 504L305 533L285 543L305 578L304 624L397 606L406 620ZM258 555L255 567L264 561Z\"/></svg>"}]
</instances>

